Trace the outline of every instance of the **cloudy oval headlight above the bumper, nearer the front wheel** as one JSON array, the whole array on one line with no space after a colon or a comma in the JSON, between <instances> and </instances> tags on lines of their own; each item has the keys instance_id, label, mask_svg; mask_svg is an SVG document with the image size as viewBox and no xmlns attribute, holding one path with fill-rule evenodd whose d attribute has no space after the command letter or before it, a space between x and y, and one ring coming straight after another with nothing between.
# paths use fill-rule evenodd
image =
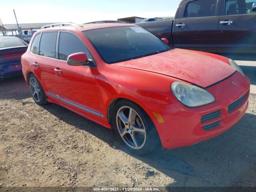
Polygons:
<instances>
[{"instance_id":1,"label":"cloudy oval headlight above the bumper, nearer the front wheel","mask_svg":"<svg viewBox=\"0 0 256 192\"><path fill-rule=\"evenodd\" d=\"M183 82L175 81L171 85L174 96L185 106L198 107L214 102L214 96L208 91Z\"/></svg>"}]
</instances>

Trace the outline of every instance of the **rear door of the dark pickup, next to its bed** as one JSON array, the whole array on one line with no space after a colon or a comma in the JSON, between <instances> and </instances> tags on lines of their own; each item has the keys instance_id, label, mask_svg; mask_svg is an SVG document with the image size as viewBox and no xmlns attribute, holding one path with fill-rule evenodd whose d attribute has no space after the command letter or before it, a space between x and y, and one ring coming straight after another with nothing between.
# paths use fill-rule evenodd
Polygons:
<instances>
[{"instance_id":1,"label":"rear door of the dark pickup, next to its bed","mask_svg":"<svg viewBox=\"0 0 256 192\"><path fill-rule=\"evenodd\" d=\"M218 14L217 0L184 1L174 21L174 46L217 52Z\"/></svg>"}]
</instances>

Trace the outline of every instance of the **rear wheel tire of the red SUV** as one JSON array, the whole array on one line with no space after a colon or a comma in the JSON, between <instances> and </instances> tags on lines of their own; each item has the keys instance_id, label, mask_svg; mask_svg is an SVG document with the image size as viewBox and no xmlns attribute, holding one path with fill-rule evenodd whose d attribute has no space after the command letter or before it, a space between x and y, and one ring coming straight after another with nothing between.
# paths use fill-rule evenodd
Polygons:
<instances>
[{"instance_id":1,"label":"rear wheel tire of the red SUV","mask_svg":"<svg viewBox=\"0 0 256 192\"><path fill-rule=\"evenodd\" d=\"M32 81L35 81L37 83L37 92L38 94L34 94L33 95L33 90L35 90L35 88L32 86L31 82ZM32 94L32 98L34 99L34 101L36 102L36 104L42 106L42 105L45 105L45 104L48 104L48 101L47 101L47 96L46 94L44 93L44 89L42 88L42 85L40 84L40 81L38 80L38 78L34 75L34 74L31 74L28 78L28 85L30 87L30 92ZM34 88L34 89L33 89Z\"/></svg>"}]
</instances>

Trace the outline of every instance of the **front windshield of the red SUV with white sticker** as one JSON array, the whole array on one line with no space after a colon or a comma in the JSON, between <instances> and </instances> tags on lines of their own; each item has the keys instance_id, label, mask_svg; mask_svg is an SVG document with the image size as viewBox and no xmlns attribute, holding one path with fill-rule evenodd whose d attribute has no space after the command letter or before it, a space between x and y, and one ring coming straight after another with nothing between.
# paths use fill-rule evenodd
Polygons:
<instances>
[{"instance_id":1,"label":"front windshield of the red SUV with white sticker","mask_svg":"<svg viewBox=\"0 0 256 192\"><path fill-rule=\"evenodd\" d=\"M104 62L111 64L140 58L171 47L152 33L137 26L101 28L84 31Z\"/></svg>"}]
</instances>

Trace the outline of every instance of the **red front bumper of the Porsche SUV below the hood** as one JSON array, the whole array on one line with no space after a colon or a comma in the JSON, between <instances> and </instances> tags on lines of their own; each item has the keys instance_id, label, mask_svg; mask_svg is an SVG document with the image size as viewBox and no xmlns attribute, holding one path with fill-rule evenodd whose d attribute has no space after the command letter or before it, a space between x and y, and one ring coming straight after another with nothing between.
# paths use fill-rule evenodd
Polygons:
<instances>
[{"instance_id":1,"label":"red front bumper of the Porsche SUV below the hood","mask_svg":"<svg viewBox=\"0 0 256 192\"><path fill-rule=\"evenodd\" d=\"M164 123L159 123L154 116L151 116L164 148L190 146L209 140L230 129L242 118L248 108L250 94L250 81L247 77L236 72L207 90L215 97L215 101L205 106L187 108L180 102L171 105L146 104L151 113L157 112L164 119ZM228 106L242 96L244 96L242 102L228 112ZM201 122L202 116L216 111L220 111L220 116ZM203 129L214 123L216 126Z\"/></svg>"}]
</instances>

